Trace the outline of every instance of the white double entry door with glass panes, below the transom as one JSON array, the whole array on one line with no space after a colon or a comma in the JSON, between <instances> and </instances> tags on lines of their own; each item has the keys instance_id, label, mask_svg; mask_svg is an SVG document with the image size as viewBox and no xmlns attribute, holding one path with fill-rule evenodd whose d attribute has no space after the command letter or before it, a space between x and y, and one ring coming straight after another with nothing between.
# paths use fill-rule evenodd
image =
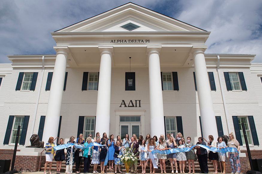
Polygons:
<instances>
[{"instance_id":1,"label":"white double entry door with glass panes, below the transom","mask_svg":"<svg viewBox=\"0 0 262 174\"><path fill-rule=\"evenodd\" d=\"M122 140L126 134L129 135L129 138L136 134L138 138L141 135L141 123L119 123L119 133Z\"/></svg>"}]
</instances>

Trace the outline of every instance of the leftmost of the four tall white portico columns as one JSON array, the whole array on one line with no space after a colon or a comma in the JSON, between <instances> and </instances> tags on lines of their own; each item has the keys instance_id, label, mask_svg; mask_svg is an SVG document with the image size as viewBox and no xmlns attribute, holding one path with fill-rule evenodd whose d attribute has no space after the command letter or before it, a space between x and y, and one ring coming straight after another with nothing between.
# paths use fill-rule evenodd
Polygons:
<instances>
[{"instance_id":1,"label":"leftmost of the four tall white portico columns","mask_svg":"<svg viewBox=\"0 0 262 174\"><path fill-rule=\"evenodd\" d=\"M42 138L42 141L45 143L48 141L49 137L57 137L66 74L66 59L68 52L66 49L58 49L56 52L57 54L54 64L54 72L49 93L45 127Z\"/></svg>"}]
</instances>

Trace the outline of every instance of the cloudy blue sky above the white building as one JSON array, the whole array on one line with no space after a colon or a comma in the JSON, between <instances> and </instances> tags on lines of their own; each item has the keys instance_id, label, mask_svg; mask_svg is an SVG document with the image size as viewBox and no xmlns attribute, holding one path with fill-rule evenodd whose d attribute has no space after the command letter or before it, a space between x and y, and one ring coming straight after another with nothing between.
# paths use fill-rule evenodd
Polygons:
<instances>
[{"instance_id":1,"label":"cloudy blue sky above the white building","mask_svg":"<svg viewBox=\"0 0 262 174\"><path fill-rule=\"evenodd\" d=\"M125 0L1 0L0 63L6 55L55 54L50 32L113 9ZM256 54L262 63L261 0L134 0L140 6L211 31L205 53Z\"/></svg>"}]
</instances>

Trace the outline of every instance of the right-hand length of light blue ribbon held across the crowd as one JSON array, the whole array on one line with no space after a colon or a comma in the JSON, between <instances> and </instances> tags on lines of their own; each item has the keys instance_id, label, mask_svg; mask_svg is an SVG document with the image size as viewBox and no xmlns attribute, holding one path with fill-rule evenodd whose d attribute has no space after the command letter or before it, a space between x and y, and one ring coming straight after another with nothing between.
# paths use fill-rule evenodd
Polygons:
<instances>
[{"instance_id":1,"label":"right-hand length of light blue ribbon held across the crowd","mask_svg":"<svg viewBox=\"0 0 262 174\"><path fill-rule=\"evenodd\" d=\"M188 152L191 149L193 149L194 147L199 146L202 147L206 150L212 151L212 152L219 152L219 153L227 153L227 152L234 152L234 153L239 153L237 151L237 148L235 147L227 147L227 148L223 148L223 149L219 149L216 147L209 147L209 146L205 146L202 144L198 144L198 145L194 145L192 147L185 147L185 148L175 148L175 149L169 149L169 150L152 150L152 153L159 153L159 154L169 154L169 153L178 153L178 152Z\"/></svg>"}]
</instances>

